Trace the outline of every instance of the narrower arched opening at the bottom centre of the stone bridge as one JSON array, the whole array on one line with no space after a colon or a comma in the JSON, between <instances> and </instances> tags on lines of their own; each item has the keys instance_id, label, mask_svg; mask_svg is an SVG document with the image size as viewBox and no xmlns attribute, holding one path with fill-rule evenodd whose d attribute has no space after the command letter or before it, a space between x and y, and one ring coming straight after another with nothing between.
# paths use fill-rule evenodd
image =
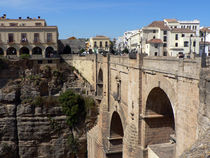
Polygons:
<instances>
[{"instance_id":1,"label":"narrower arched opening at the bottom centre of the stone bridge","mask_svg":"<svg viewBox=\"0 0 210 158\"><path fill-rule=\"evenodd\" d=\"M120 115L117 112L112 114L110 124L110 137L108 150L110 154L108 158L122 158L124 130Z\"/></svg>"}]
</instances>

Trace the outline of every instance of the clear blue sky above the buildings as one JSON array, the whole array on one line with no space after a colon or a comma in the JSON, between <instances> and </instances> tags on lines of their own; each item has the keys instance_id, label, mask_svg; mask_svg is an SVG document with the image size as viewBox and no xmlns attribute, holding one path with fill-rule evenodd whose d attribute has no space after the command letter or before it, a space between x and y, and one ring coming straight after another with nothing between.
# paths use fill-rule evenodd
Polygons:
<instances>
[{"instance_id":1,"label":"clear blue sky above the buildings","mask_svg":"<svg viewBox=\"0 0 210 158\"><path fill-rule=\"evenodd\" d=\"M0 0L8 18L37 17L57 25L59 38L118 37L154 20L199 19L210 26L210 0Z\"/></svg>"}]
</instances>

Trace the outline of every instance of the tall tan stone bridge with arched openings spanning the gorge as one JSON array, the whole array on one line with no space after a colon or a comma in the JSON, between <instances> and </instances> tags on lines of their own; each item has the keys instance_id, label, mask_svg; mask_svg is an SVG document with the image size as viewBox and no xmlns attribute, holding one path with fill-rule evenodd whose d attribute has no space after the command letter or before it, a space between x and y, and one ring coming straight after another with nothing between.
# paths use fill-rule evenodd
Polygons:
<instances>
[{"instance_id":1,"label":"tall tan stone bridge with arched openings spanning the gorge","mask_svg":"<svg viewBox=\"0 0 210 158\"><path fill-rule=\"evenodd\" d=\"M179 157L209 128L210 71L200 58L63 58L100 102L97 124L88 132L89 158Z\"/></svg>"}]
</instances>

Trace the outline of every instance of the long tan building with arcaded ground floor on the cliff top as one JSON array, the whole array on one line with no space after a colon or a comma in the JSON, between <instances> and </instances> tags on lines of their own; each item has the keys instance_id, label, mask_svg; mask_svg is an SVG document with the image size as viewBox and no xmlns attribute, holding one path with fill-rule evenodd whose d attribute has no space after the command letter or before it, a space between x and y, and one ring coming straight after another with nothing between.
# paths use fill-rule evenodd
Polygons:
<instances>
[{"instance_id":1,"label":"long tan building with arcaded ground floor on the cliff top","mask_svg":"<svg viewBox=\"0 0 210 158\"><path fill-rule=\"evenodd\" d=\"M57 26L47 26L46 21L40 17L8 19L4 15L0 18L0 55L54 57L58 48L57 42Z\"/></svg>"}]
</instances>

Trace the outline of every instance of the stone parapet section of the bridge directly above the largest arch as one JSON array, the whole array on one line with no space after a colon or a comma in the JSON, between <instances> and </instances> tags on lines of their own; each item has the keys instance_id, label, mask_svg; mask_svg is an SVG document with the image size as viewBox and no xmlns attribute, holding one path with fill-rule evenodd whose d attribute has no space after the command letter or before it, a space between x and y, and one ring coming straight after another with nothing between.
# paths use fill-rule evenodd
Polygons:
<instances>
[{"instance_id":1,"label":"stone parapet section of the bridge directly above the largest arch","mask_svg":"<svg viewBox=\"0 0 210 158\"><path fill-rule=\"evenodd\" d=\"M201 59L147 56L143 59L142 69L144 71L150 71L150 73L161 72L172 75L172 78L186 77L198 80L201 69Z\"/></svg>"}]
</instances>

